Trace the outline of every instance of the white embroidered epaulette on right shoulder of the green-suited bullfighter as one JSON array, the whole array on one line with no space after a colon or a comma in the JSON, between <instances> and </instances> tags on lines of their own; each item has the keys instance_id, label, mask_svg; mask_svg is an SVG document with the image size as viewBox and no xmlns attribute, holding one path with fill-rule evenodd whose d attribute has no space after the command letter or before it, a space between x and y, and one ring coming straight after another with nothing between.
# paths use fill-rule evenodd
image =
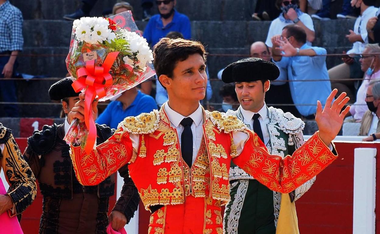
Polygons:
<instances>
[{"instance_id":1,"label":"white embroidered epaulette on right shoulder of the green-suited bullfighter","mask_svg":"<svg viewBox=\"0 0 380 234\"><path fill-rule=\"evenodd\" d=\"M275 121L280 129L287 134L296 134L302 132L305 127L304 121L295 117L290 112L284 113L281 109L269 107L272 113L271 122Z\"/></svg>"}]
</instances>

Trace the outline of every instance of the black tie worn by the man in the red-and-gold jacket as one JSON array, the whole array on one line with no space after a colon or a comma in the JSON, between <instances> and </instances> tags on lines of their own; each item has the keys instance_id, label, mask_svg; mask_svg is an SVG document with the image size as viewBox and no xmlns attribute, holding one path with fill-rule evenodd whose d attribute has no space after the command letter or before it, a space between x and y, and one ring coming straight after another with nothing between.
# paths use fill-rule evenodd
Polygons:
<instances>
[{"instance_id":1,"label":"black tie worn by the man in the red-and-gold jacket","mask_svg":"<svg viewBox=\"0 0 380 234\"><path fill-rule=\"evenodd\" d=\"M193 132L191 130L191 125L193 124L193 119L190 117L184 118L181 121L181 125L184 126L184 131L181 134L181 153L182 159L191 168L193 162Z\"/></svg>"}]
</instances>

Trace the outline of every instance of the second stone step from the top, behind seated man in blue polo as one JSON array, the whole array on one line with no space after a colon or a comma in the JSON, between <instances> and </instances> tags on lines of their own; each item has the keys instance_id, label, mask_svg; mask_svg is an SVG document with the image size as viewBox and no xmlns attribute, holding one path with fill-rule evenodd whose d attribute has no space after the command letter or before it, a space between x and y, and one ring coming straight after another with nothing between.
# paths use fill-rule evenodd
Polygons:
<instances>
[{"instance_id":1,"label":"second stone step from the top, behind seated man in blue polo","mask_svg":"<svg viewBox=\"0 0 380 234\"><path fill-rule=\"evenodd\" d=\"M316 38L314 46L351 46L345 38L353 28L355 20L314 21ZM140 30L146 22L136 21ZM257 21L192 21L192 38L201 41L209 48L244 47L255 41L265 41L270 22ZM64 20L25 20L25 47L68 46L72 22Z\"/></svg>"}]
</instances>

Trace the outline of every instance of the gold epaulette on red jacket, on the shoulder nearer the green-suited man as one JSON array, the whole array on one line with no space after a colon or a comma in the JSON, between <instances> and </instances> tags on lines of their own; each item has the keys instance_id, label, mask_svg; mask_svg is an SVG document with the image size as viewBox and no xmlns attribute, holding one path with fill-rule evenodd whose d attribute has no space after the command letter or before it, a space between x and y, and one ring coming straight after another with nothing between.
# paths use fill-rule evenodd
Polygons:
<instances>
[{"instance_id":1,"label":"gold epaulette on red jacket, on the shoulder nearer the green-suited man","mask_svg":"<svg viewBox=\"0 0 380 234\"><path fill-rule=\"evenodd\" d=\"M223 130L226 133L247 129L247 126L237 119L235 115L226 115L218 111L209 112L207 110L205 110L205 114L206 118L210 119L219 130Z\"/></svg>"}]
</instances>

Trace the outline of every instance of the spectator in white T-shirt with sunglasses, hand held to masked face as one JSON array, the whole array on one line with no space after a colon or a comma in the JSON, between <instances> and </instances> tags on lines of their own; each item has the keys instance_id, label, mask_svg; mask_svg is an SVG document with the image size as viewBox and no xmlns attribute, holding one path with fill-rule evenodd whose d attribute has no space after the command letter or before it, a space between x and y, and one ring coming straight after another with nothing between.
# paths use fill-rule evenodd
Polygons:
<instances>
[{"instance_id":1,"label":"spectator in white T-shirt with sunglasses, hand held to masked face","mask_svg":"<svg viewBox=\"0 0 380 234\"><path fill-rule=\"evenodd\" d=\"M265 44L272 47L271 38L273 36L280 35L286 25L296 24L305 30L307 44L311 46L315 38L313 20L299 9L299 0L276 0L276 6L281 9L282 13L269 26Z\"/></svg>"}]
</instances>

